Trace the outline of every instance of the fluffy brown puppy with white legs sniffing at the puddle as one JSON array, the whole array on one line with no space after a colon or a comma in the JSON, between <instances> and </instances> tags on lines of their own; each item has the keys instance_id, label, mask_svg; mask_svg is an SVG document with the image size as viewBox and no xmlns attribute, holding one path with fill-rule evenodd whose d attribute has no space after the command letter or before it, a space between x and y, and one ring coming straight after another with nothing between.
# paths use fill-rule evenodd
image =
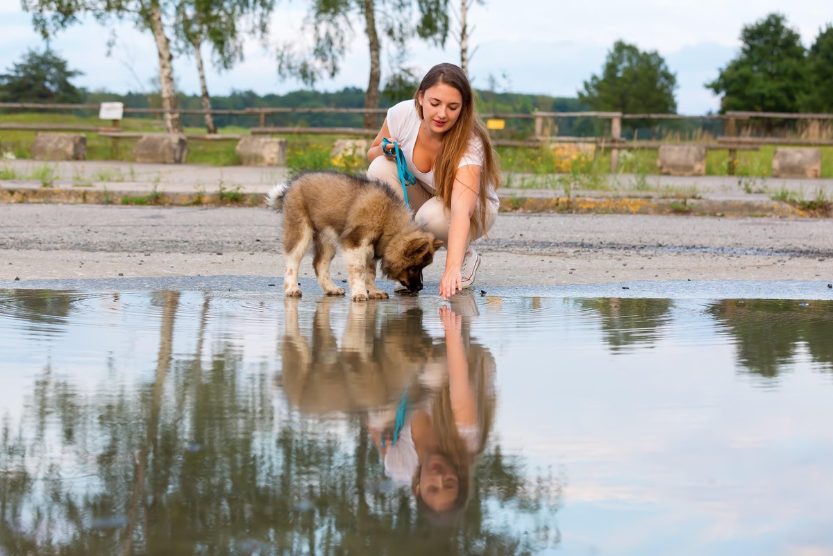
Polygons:
<instances>
[{"instance_id":1,"label":"fluffy brown puppy with white legs sniffing at the puddle","mask_svg":"<svg viewBox=\"0 0 833 556\"><path fill-rule=\"evenodd\" d=\"M376 287L377 261L382 261L382 274L408 290L421 290L422 269L442 245L413 223L407 206L388 186L364 177L334 171L302 174L275 186L267 205L284 213L287 296L301 295L298 266L311 242L315 245L312 266L327 295L344 295L330 278L330 263L337 246L342 246L354 301L387 298Z\"/></svg>"}]
</instances>

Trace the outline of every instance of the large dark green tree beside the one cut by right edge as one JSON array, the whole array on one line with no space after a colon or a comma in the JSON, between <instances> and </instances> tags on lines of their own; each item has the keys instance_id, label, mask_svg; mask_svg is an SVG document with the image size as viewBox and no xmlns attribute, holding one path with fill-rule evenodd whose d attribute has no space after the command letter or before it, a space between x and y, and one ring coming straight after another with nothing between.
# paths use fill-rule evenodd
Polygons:
<instances>
[{"instance_id":1,"label":"large dark green tree beside the one cut by right edge","mask_svg":"<svg viewBox=\"0 0 833 556\"><path fill-rule=\"evenodd\" d=\"M799 112L806 91L805 48L786 17L771 13L743 27L741 53L706 88L722 96L721 112Z\"/></svg>"}]
</instances>

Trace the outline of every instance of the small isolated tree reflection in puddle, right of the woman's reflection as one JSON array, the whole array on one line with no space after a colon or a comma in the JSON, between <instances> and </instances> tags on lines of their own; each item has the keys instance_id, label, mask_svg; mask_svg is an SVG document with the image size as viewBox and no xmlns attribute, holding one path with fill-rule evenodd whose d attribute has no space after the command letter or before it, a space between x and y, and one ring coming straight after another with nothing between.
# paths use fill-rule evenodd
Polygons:
<instances>
[{"instance_id":1,"label":"small isolated tree reflection in puddle, right of the woman's reflection","mask_svg":"<svg viewBox=\"0 0 833 556\"><path fill-rule=\"evenodd\" d=\"M669 319L671 300L598 298L579 300L584 309L601 316L604 340L612 351L629 345L651 345Z\"/></svg>"}]
</instances>

